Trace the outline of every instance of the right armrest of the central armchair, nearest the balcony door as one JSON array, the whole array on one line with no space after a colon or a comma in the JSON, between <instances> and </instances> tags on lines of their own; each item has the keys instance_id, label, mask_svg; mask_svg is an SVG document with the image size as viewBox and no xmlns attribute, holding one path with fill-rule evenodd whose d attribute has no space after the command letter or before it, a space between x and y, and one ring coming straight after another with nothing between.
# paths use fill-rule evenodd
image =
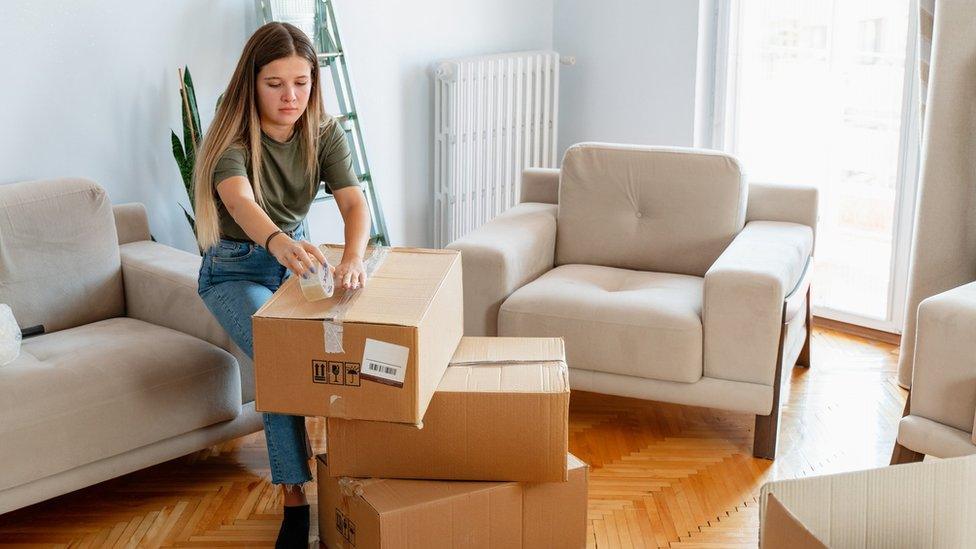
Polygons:
<instances>
[{"instance_id":1,"label":"right armrest of the central armchair, nearest the balcony door","mask_svg":"<svg viewBox=\"0 0 976 549\"><path fill-rule=\"evenodd\" d=\"M801 281L813 229L752 221L705 273L704 374L773 385L784 301Z\"/></svg>"}]
</instances>

